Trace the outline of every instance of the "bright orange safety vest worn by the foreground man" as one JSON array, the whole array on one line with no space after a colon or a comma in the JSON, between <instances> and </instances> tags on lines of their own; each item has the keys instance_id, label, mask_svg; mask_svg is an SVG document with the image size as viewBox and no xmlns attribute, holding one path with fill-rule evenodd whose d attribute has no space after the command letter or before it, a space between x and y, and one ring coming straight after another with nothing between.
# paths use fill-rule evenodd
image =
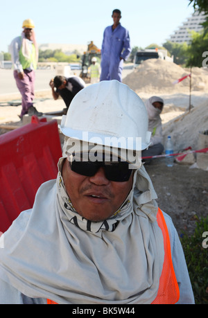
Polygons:
<instances>
[{"instance_id":1,"label":"bright orange safety vest worn by the foreground man","mask_svg":"<svg viewBox=\"0 0 208 318\"><path fill-rule=\"evenodd\" d=\"M160 305L174 304L179 300L180 292L173 268L168 228L166 226L166 221L164 220L164 215L160 209L158 209L157 212L157 224L162 230L164 239L164 263L162 267L162 274L159 279L157 297L152 303ZM51 301L50 299L47 299L47 303L52 305L57 304L55 301Z\"/></svg>"}]
</instances>

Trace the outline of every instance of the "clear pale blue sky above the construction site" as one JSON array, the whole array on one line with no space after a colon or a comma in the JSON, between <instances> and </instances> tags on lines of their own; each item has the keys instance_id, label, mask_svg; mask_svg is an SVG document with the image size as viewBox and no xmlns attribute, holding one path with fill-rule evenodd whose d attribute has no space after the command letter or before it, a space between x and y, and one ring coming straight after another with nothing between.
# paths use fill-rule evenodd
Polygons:
<instances>
[{"instance_id":1,"label":"clear pale blue sky above the construction site","mask_svg":"<svg viewBox=\"0 0 208 318\"><path fill-rule=\"evenodd\" d=\"M3 2L3 3L2 3ZM60 4L60 5L59 5ZM121 25L131 46L162 45L193 13L189 0L10 0L1 1L0 52L21 35L24 19L33 19L38 44L87 44L101 48L112 10L121 10Z\"/></svg>"}]
</instances>

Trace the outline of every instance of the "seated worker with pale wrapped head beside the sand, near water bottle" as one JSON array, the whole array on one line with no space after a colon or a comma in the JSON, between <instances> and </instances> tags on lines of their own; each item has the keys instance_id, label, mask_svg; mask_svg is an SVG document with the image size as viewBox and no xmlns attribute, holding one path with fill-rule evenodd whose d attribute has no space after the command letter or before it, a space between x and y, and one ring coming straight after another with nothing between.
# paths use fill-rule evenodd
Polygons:
<instances>
[{"instance_id":1,"label":"seated worker with pale wrapped head beside the sand, near water bottle","mask_svg":"<svg viewBox=\"0 0 208 318\"><path fill-rule=\"evenodd\" d=\"M141 157L152 157L157 154L162 154L164 145L162 144L162 121L160 114L164 107L164 100L157 96L150 97L146 103L148 111L148 130L152 132L150 146L148 149L141 152ZM150 159L144 159L146 163L150 163Z\"/></svg>"}]
</instances>

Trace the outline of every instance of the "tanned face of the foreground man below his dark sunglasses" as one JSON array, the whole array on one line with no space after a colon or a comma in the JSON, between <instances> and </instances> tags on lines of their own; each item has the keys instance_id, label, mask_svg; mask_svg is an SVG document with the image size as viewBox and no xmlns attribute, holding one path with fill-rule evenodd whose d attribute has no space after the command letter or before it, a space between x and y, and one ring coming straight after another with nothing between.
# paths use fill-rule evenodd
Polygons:
<instances>
[{"instance_id":1,"label":"tanned face of the foreground man below his dark sunglasses","mask_svg":"<svg viewBox=\"0 0 208 318\"><path fill-rule=\"evenodd\" d=\"M101 167L94 176L86 177L73 172L65 159L62 177L76 211L83 218L98 222L110 218L123 204L132 188L133 174L126 182L112 182Z\"/></svg>"}]
</instances>

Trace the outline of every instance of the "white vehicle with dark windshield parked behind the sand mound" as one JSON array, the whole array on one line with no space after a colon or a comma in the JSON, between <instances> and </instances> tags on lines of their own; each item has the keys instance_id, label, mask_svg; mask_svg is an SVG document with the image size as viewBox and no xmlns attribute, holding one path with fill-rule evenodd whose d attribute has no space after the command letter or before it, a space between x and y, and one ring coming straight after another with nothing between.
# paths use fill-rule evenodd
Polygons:
<instances>
[{"instance_id":1,"label":"white vehicle with dark windshield parked behind the sand mound","mask_svg":"<svg viewBox=\"0 0 208 318\"><path fill-rule=\"evenodd\" d=\"M173 62L173 55L168 56L168 51L160 48L149 48L146 50L139 50L135 54L134 67L138 67L139 64L150 58L159 58L160 60L166 60L168 62Z\"/></svg>"}]
</instances>

